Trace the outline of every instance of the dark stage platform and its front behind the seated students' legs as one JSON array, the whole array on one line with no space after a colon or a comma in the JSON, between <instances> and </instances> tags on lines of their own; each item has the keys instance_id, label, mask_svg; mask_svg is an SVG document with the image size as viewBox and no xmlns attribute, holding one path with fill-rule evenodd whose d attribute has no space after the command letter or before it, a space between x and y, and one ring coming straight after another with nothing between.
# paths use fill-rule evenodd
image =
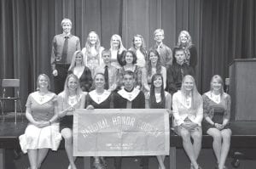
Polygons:
<instances>
[{"instance_id":1,"label":"dark stage platform and its front behind the seated students' legs","mask_svg":"<svg viewBox=\"0 0 256 169\"><path fill-rule=\"evenodd\" d=\"M0 169L20 169L26 168L28 165L27 155L23 155L20 152L20 145L18 137L22 134L26 128L27 121L24 118L24 121L21 121L19 116L18 122L15 125L14 118L7 118L4 122L1 120L0 123L0 149L1 149L1 159L0 159ZM245 153L244 155L240 155L241 158L240 166L238 168L241 169L251 169L251 166L256 165L255 155L256 152L256 122L255 121L231 121L231 129L233 131L233 135L231 138L231 147L230 147L230 155L226 161L226 166L230 168L235 168L231 166L231 162L233 161L233 153L239 151L241 153ZM175 159L176 159L176 168L185 169L189 167L189 160L185 155L181 138L177 135L172 134L170 138L171 148L176 148L175 151ZM172 155L174 152L171 152ZM173 157L173 156L172 156ZM198 162L201 164L203 168L209 168L210 166L214 166L214 156L212 152L212 138L204 135L202 141L202 149L201 154L199 156ZM172 158L173 160L173 158ZM108 168L113 168L113 158L108 157ZM88 158L87 164L85 164L86 168L88 167ZM4 167L5 163L5 167ZM49 155L46 157L42 169L49 168L66 168L67 167L67 155L64 150L64 142L61 142L61 147L57 152L49 151ZM76 161L79 168L84 167L84 158L79 158ZM123 160L123 169L139 169L140 166L140 158L136 157L124 157ZM169 157L166 157L166 168L169 168L170 162ZM171 162L171 165L172 162ZM158 163L154 156L149 157L149 169L154 169L158 167ZM172 166L173 167L173 166ZM85 167L84 167L85 168Z\"/></svg>"}]
</instances>

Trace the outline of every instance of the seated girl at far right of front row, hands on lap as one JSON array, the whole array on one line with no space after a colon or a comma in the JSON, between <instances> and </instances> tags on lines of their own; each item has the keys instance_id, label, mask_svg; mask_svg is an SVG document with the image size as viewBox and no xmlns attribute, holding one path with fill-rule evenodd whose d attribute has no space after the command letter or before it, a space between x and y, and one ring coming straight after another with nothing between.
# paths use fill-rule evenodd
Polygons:
<instances>
[{"instance_id":1,"label":"seated girl at far right of front row, hands on lap","mask_svg":"<svg viewBox=\"0 0 256 169\"><path fill-rule=\"evenodd\" d=\"M224 169L230 150L230 95L224 93L221 76L212 76L211 89L203 96L204 131L213 138L212 147L217 158L217 168Z\"/></svg>"}]
</instances>

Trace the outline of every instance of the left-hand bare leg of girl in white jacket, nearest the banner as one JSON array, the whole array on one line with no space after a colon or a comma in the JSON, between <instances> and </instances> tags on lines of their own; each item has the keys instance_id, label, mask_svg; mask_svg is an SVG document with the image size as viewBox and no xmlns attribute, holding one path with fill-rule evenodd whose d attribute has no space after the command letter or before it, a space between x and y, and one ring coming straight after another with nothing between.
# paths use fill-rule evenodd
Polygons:
<instances>
[{"instance_id":1,"label":"left-hand bare leg of girl in white jacket, nearest the banner","mask_svg":"<svg viewBox=\"0 0 256 169\"><path fill-rule=\"evenodd\" d=\"M189 160L191 161L192 165L195 168L198 168L198 164L195 160L194 148L191 143L189 131L186 129L180 128L180 135L183 138L183 148L185 149L187 155L189 156Z\"/></svg>"}]
</instances>

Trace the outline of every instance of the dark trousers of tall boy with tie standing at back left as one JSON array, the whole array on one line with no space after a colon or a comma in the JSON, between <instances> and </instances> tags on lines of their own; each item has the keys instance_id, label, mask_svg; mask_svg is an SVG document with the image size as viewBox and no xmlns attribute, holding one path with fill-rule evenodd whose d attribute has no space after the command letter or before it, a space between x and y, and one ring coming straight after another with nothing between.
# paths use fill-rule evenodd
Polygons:
<instances>
[{"instance_id":1,"label":"dark trousers of tall boy with tie standing at back left","mask_svg":"<svg viewBox=\"0 0 256 169\"><path fill-rule=\"evenodd\" d=\"M55 93L61 93L64 89L65 80L67 77L67 70L69 64L56 64L55 69L58 71L58 75L54 76Z\"/></svg>"}]
</instances>

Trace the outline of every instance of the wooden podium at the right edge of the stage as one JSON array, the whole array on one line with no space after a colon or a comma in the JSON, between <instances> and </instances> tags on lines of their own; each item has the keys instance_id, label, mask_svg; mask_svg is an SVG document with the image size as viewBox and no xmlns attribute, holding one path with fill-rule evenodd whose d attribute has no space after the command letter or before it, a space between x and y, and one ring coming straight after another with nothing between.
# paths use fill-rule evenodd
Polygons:
<instances>
[{"instance_id":1,"label":"wooden podium at the right edge of the stage","mask_svg":"<svg viewBox=\"0 0 256 169\"><path fill-rule=\"evenodd\" d=\"M230 65L231 119L256 121L256 59L235 59Z\"/></svg>"}]
</instances>

